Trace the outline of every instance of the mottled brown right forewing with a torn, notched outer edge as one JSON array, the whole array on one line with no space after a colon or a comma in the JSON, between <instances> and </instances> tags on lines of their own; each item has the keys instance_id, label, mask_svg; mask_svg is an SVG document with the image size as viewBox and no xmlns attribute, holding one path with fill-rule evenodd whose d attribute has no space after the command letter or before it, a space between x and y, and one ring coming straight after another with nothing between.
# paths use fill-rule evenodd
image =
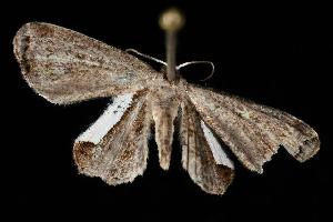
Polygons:
<instances>
[{"instance_id":1,"label":"mottled brown right forewing with a torn, notched outer edge","mask_svg":"<svg viewBox=\"0 0 333 222\"><path fill-rule=\"evenodd\" d=\"M301 162L320 149L317 133L291 114L194 85L189 85L188 95L204 122L250 170L262 173L280 145Z\"/></svg>"}]
</instances>

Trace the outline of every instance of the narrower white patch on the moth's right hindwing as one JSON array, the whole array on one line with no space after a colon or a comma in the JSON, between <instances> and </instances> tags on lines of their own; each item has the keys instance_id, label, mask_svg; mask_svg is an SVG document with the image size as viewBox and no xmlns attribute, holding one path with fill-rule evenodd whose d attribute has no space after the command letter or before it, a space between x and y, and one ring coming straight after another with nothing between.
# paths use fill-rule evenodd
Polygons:
<instances>
[{"instance_id":1,"label":"narrower white patch on the moth's right hindwing","mask_svg":"<svg viewBox=\"0 0 333 222\"><path fill-rule=\"evenodd\" d=\"M223 164L229 167L230 169L234 169L232 161L228 158L223 148L220 145L219 141L212 133L212 131L205 125L205 123L201 120L201 128L203 130L203 134L205 137L206 142L213 153L214 160L218 164Z\"/></svg>"}]
</instances>

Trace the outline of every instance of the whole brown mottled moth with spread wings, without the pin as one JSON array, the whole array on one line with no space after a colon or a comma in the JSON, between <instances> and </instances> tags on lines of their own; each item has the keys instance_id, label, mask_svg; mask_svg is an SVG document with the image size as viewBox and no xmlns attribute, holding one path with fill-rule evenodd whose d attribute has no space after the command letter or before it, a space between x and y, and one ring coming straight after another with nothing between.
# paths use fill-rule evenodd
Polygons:
<instances>
[{"instance_id":1,"label":"whole brown mottled moth with spread wings, without the pin","mask_svg":"<svg viewBox=\"0 0 333 222\"><path fill-rule=\"evenodd\" d=\"M212 194L223 194L234 178L226 149L258 173L280 145L300 162L320 149L317 133L291 114L182 77L171 81L131 53L65 28L27 23L13 47L24 80L49 102L113 98L73 145L79 172L110 185L143 174L152 129L160 165L168 170L175 124L183 169Z\"/></svg>"}]
</instances>

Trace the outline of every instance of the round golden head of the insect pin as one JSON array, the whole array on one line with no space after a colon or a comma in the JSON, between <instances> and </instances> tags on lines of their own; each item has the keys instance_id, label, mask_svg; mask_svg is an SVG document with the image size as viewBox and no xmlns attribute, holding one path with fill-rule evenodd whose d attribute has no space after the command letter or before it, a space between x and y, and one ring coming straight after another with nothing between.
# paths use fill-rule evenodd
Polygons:
<instances>
[{"instance_id":1,"label":"round golden head of the insect pin","mask_svg":"<svg viewBox=\"0 0 333 222\"><path fill-rule=\"evenodd\" d=\"M178 9L173 8L161 14L159 23L161 29L165 31L178 31L184 26L185 18Z\"/></svg>"}]
</instances>

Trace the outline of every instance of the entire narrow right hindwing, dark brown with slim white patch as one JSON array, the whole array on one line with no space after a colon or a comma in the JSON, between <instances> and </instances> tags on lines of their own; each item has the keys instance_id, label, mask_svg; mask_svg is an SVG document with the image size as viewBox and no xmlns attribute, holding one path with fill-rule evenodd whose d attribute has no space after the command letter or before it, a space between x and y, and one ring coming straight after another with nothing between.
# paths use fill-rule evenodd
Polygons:
<instances>
[{"instance_id":1,"label":"entire narrow right hindwing, dark brown with slim white patch","mask_svg":"<svg viewBox=\"0 0 333 222\"><path fill-rule=\"evenodd\" d=\"M188 101L181 107L182 165L202 190L223 194L234 175L233 163L195 108Z\"/></svg>"}]
</instances>

